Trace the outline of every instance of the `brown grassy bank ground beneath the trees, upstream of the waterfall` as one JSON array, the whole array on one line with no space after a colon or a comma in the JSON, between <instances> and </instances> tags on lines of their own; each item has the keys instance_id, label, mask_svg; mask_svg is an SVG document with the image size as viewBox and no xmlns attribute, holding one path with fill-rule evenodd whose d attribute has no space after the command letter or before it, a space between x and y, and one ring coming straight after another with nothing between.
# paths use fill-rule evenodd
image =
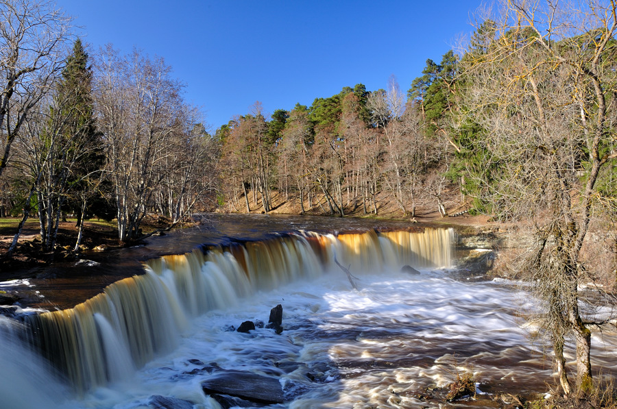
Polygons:
<instances>
[{"instance_id":1,"label":"brown grassy bank ground beneath the trees, upstream of the waterfall","mask_svg":"<svg viewBox=\"0 0 617 409\"><path fill-rule=\"evenodd\" d=\"M248 195L252 197L251 191ZM489 216L479 215L471 216L466 210L468 207L465 203L457 200L455 193L448 196L446 200L448 204L448 214L458 214L457 216L442 217L436 208L431 206L419 206L416 209L415 216L403 214L402 210L387 197L378 195L377 197L377 214L366 213L362 206L349 206L346 208L346 216L344 219L369 219L373 221L400 221L402 223L410 223L410 225L459 225L469 226L470 229L482 230L488 227L493 230L498 230L498 223L490 223ZM299 215L302 212L300 202L294 197L285 197L278 193L272 193L271 197L273 209L269 214L273 215ZM325 198L322 195L314 195L313 206L306 206L306 216L323 216L328 220L328 217L338 218L339 215L331 215L324 207L323 201ZM319 206L318 203L322 203ZM217 209L215 214L230 213L230 214L263 214L261 201L256 196L254 202L251 203L251 212L234 211L234 208L229 205ZM80 251L74 252L75 242L77 238L77 226L75 219L66 219L60 222L58 228L58 242L55 249L49 251L42 249L40 246L40 227L36 219L29 219L23 232L19 238L19 244L11 258L3 258L13 236L17 230L17 226L21 218L3 218L0 219L0 282L5 280L24 279L33 277L40 273L40 269L53 266L54 263L64 262L65 260L79 260L84 258L84 253L91 251L106 251L110 249L118 249L125 246L137 245L136 243L121 243L118 240L117 225L114 221L106 222L101 220L88 220L84 222L84 237L80 245ZM160 228L167 227L165 218L152 217L145 220L143 225L144 232L154 231ZM199 223L197 223L199 224ZM207 225L208 220L201 223ZM324 222L327 224L327 222ZM190 223L194 225L194 223ZM186 225L178 228L186 227ZM206 226L207 227L207 226ZM247 226L250 227L250 226Z\"/></svg>"}]
</instances>

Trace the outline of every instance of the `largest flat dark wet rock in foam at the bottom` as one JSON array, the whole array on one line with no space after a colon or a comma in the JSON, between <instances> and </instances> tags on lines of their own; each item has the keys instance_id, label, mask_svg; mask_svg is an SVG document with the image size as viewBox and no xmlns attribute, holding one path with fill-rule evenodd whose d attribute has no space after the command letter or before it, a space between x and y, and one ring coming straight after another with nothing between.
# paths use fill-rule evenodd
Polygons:
<instances>
[{"instance_id":1,"label":"largest flat dark wet rock in foam at the bottom","mask_svg":"<svg viewBox=\"0 0 617 409\"><path fill-rule=\"evenodd\" d=\"M202 382L202 388L207 395L229 395L254 404L272 405L285 402L278 378L252 372L219 372L213 378Z\"/></svg>"}]
</instances>

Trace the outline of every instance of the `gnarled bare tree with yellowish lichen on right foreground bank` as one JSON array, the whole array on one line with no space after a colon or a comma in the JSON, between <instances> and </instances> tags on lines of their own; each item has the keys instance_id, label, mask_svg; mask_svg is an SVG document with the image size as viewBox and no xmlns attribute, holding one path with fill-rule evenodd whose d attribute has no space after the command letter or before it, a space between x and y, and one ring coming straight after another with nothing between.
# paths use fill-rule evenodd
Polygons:
<instances>
[{"instance_id":1,"label":"gnarled bare tree with yellowish lichen on right foreground bank","mask_svg":"<svg viewBox=\"0 0 617 409\"><path fill-rule=\"evenodd\" d=\"M614 165L617 73L614 1L507 1L485 47L463 57L461 113L485 133L485 199L501 218L529 219L536 245L522 267L544 306L559 381L572 392L564 347L576 341L578 391L590 391L590 326L579 284L583 248ZM614 186L613 186L614 188Z\"/></svg>"}]
</instances>

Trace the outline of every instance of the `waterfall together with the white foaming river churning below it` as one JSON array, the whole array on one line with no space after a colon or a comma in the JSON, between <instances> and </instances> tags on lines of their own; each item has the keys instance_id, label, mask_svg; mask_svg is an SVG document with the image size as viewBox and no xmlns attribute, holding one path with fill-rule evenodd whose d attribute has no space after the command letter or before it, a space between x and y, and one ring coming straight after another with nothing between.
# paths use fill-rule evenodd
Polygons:
<instances>
[{"instance_id":1,"label":"waterfall together with the white foaming river churning below it","mask_svg":"<svg viewBox=\"0 0 617 409\"><path fill-rule=\"evenodd\" d=\"M225 371L280 380L287 402L273 408L439 407L433 388L463 371L481 393L544 391L551 362L520 317L529 295L455 279L454 240L450 229L304 232L149 260L75 308L0 321L1 407L156 408L162 395L218 408L201 383ZM282 334L232 330L277 304ZM615 344L595 336L593 363L614 371ZM474 402L463 404L494 407Z\"/></svg>"}]
</instances>

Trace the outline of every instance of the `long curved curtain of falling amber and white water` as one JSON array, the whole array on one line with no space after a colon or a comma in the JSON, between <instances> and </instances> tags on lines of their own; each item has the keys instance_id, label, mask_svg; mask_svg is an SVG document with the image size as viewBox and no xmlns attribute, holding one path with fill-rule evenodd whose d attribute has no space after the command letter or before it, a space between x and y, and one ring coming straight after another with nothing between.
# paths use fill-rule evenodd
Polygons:
<instances>
[{"instance_id":1,"label":"long curved curtain of falling amber and white water","mask_svg":"<svg viewBox=\"0 0 617 409\"><path fill-rule=\"evenodd\" d=\"M450 265L452 229L316 234L195 249L145 262L145 273L120 280L74 308L25 318L33 345L77 391L119 382L158 353L173 349L191 319L241 297L329 271L379 273L409 264Z\"/></svg>"}]
</instances>

